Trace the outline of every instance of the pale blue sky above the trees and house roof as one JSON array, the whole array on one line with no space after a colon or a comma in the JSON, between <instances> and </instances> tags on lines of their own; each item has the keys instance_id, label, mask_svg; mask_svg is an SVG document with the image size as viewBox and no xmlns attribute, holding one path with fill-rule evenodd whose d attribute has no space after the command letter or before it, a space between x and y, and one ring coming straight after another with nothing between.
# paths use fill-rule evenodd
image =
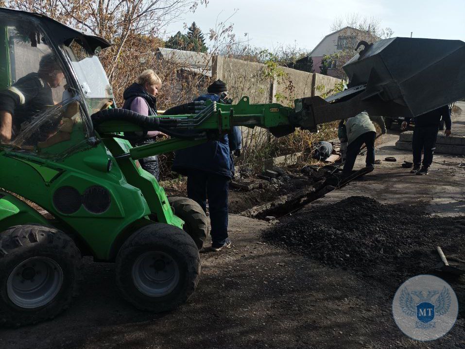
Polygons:
<instances>
[{"instance_id":1,"label":"pale blue sky above the trees and house roof","mask_svg":"<svg viewBox=\"0 0 465 349\"><path fill-rule=\"evenodd\" d=\"M195 21L208 33L216 22L226 21L234 24L239 39L248 33L252 46L273 49L295 43L310 50L329 34L335 17L351 13L379 18L394 36L413 32L413 37L465 40L465 0L210 0L167 31L184 32L183 22Z\"/></svg>"}]
</instances>

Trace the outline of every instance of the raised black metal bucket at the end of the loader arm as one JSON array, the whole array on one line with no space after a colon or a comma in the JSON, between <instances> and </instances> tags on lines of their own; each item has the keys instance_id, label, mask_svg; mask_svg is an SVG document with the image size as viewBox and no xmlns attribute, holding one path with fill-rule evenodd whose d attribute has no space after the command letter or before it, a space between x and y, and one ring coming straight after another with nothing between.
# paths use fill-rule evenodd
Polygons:
<instances>
[{"instance_id":1,"label":"raised black metal bucket at the end of the loader arm","mask_svg":"<svg viewBox=\"0 0 465 349\"><path fill-rule=\"evenodd\" d=\"M360 44L359 44L360 45ZM418 116L465 96L465 43L395 37L364 44L343 67L379 115Z\"/></svg>"}]
</instances>

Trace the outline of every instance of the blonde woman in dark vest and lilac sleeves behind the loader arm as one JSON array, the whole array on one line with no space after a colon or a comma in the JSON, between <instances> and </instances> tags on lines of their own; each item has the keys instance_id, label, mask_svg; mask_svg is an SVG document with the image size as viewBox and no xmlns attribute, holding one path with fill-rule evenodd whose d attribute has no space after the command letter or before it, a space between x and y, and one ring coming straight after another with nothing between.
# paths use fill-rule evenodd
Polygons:
<instances>
[{"instance_id":1,"label":"blonde woman in dark vest and lilac sleeves behind the loader arm","mask_svg":"<svg viewBox=\"0 0 465 349\"><path fill-rule=\"evenodd\" d=\"M135 111L136 113L155 116L156 114L156 95L161 88L161 79L152 69L144 70L138 76L137 83L132 84L124 90L124 109ZM156 137L166 136L162 132L147 131L126 133L127 136L133 137L136 141L133 145L142 145L155 142ZM160 169L158 166L158 157L144 157L139 160L142 168L150 172L158 180Z\"/></svg>"}]
</instances>

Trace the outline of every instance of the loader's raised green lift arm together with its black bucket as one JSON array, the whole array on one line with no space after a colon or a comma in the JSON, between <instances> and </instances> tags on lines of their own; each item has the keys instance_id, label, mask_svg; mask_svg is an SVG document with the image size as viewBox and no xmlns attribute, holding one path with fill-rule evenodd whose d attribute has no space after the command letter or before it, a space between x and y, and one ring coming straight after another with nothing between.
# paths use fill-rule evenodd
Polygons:
<instances>
[{"instance_id":1,"label":"loader's raised green lift arm together with its black bucket","mask_svg":"<svg viewBox=\"0 0 465 349\"><path fill-rule=\"evenodd\" d=\"M344 65L349 88L326 100L300 98L291 108L276 103L250 104L244 96L236 105L207 101L201 110L195 102L172 108L192 114L150 118L106 109L92 115L92 120L104 139L115 137L114 133L148 130L172 136L120 155L136 160L216 139L234 126L264 127L282 137L297 127L316 131L319 124L347 119L364 110L372 115L415 117L465 96L463 41L395 37L360 45L364 49Z\"/></svg>"}]
</instances>

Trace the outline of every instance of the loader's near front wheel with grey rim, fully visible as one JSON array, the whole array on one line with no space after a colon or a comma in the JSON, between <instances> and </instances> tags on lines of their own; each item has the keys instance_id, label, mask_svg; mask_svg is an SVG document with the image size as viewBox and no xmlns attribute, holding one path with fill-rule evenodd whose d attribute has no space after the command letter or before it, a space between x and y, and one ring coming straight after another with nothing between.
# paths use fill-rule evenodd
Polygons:
<instances>
[{"instance_id":1,"label":"loader's near front wheel with grey rim, fully visible","mask_svg":"<svg viewBox=\"0 0 465 349\"><path fill-rule=\"evenodd\" d=\"M142 273L139 274L138 265L147 266L144 276L147 275L148 278L153 278L152 280L158 278L155 275L156 265L163 262L160 262L158 257L150 258L151 254L161 254L165 256L165 261L168 259L173 263L167 263L165 267L177 267L177 278L167 294L148 295L147 289L144 292L140 286L141 282L144 286L149 282L143 283L145 279L140 281ZM153 264L144 264L145 258ZM163 266L158 272L164 272ZM199 279L200 256L197 246L182 229L168 224L156 223L138 229L124 242L116 258L116 282L121 294L140 310L159 313L178 307L192 295ZM157 282L152 282L149 286L153 287L156 293L161 289L158 285Z\"/></svg>"}]
</instances>

